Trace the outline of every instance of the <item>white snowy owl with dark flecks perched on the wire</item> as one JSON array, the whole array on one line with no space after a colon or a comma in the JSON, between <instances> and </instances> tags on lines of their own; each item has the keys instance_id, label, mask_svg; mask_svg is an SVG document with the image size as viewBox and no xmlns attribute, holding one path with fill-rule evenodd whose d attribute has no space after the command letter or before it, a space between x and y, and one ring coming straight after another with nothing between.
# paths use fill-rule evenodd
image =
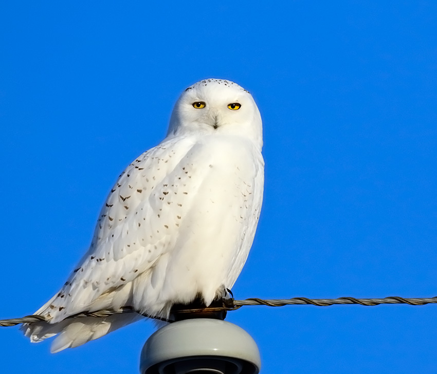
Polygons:
<instances>
[{"instance_id":1,"label":"white snowy owl with dark flecks perched on the wire","mask_svg":"<svg viewBox=\"0 0 437 374\"><path fill-rule=\"evenodd\" d=\"M23 326L32 342L57 335L52 352L77 347L140 314L68 319L130 306L167 318L174 304L220 298L240 274L260 215L262 122L252 96L207 79L177 100L167 137L120 175L89 250L67 282Z\"/></svg>"}]
</instances>

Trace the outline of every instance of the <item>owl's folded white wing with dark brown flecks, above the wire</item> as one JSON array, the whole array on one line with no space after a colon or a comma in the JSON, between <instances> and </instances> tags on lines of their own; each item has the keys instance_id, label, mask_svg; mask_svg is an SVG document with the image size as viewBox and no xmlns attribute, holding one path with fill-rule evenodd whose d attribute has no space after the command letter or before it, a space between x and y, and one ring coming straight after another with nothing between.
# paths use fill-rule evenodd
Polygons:
<instances>
[{"instance_id":1,"label":"owl's folded white wing with dark brown flecks, above the wire","mask_svg":"<svg viewBox=\"0 0 437 374\"><path fill-rule=\"evenodd\" d=\"M178 207L166 195L177 193L175 183L185 176L180 160L192 146L189 138L169 139L126 168L106 199L89 250L37 314L56 323L82 311L129 305L132 281L153 269L177 237Z\"/></svg>"}]
</instances>

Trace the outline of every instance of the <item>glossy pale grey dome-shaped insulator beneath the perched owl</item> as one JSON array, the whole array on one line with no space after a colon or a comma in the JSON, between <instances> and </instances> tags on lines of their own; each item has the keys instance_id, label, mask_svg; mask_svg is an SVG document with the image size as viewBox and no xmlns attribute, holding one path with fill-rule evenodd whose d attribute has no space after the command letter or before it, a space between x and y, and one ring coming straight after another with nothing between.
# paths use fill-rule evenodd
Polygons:
<instances>
[{"instance_id":1,"label":"glossy pale grey dome-shaped insulator beneath the perched owl","mask_svg":"<svg viewBox=\"0 0 437 374\"><path fill-rule=\"evenodd\" d=\"M145 342L141 374L258 374L260 352L241 327L212 319L174 322Z\"/></svg>"}]
</instances>

